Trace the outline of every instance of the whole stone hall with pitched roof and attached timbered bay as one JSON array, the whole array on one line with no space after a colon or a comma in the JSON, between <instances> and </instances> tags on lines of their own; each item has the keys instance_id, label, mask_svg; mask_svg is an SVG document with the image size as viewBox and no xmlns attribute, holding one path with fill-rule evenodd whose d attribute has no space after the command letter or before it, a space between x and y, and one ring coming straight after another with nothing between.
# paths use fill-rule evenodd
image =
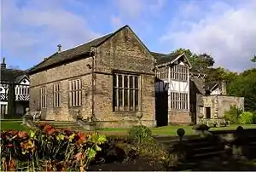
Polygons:
<instances>
[{"instance_id":1,"label":"whole stone hall with pitched roof and attached timbered bay","mask_svg":"<svg viewBox=\"0 0 256 172\"><path fill-rule=\"evenodd\" d=\"M191 99L205 93L189 94L187 57L151 52L129 26L72 49L58 47L30 70L30 108L43 119L79 114L101 127L155 126L191 123L191 104L195 112L201 108Z\"/></svg>"}]
</instances>

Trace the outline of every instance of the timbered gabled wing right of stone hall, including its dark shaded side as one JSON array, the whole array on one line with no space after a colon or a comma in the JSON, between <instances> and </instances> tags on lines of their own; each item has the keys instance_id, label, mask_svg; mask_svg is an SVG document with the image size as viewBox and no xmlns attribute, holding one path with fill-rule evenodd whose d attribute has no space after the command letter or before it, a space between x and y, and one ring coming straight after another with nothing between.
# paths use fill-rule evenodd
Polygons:
<instances>
[{"instance_id":1,"label":"timbered gabled wing right of stone hall, including its dark shaded side","mask_svg":"<svg viewBox=\"0 0 256 172\"><path fill-rule=\"evenodd\" d=\"M189 69L185 54L153 53L156 59L155 98L158 125L190 123ZM166 117L166 118L165 118Z\"/></svg>"}]
</instances>

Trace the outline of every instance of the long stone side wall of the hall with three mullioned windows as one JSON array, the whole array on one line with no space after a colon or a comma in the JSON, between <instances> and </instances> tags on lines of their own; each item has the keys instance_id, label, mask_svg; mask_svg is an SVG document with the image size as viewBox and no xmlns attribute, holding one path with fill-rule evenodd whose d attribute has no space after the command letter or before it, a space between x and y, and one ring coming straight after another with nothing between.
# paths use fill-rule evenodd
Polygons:
<instances>
[{"instance_id":1,"label":"long stone side wall of the hall with three mullioned windows","mask_svg":"<svg viewBox=\"0 0 256 172\"><path fill-rule=\"evenodd\" d=\"M84 118L91 114L91 74L86 67L91 64L91 58L74 61L67 65L58 66L44 72L38 72L30 76L30 109L40 110L40 88L46 86L47 108L41 109L42 117L47 120L73 120L73 110L80 110ZM82 106L79 108L68 105L69 81L81 78L82 80ZM61 107L53 107L53 84L61 83Z\"/></svg>"}]
</instances>

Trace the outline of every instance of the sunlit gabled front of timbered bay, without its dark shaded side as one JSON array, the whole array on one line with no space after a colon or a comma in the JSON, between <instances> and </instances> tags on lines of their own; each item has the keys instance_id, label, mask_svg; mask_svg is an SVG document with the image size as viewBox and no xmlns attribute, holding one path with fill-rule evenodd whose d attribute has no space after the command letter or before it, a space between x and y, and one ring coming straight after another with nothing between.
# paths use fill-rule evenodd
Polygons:
<instances>
[{"instance_id":1,"label":"sunlit gabled front of timbered bay, without its dark shaded side","mask_svg":"<svg viewBox=\"0 0 256 172\"><path fill-rule=\"evenodd\" d=\"M152 54L156 77L168 85L168 123L189 123L189 60L185 54Z\"/></svg>"}]
</instances>

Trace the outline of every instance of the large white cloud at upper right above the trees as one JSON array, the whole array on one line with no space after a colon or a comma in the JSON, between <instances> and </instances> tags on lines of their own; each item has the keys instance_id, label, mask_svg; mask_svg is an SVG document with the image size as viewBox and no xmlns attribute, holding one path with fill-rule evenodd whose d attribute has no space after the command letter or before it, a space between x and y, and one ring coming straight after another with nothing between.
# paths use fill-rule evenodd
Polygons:
<instances>
[{"instance_id":1,"label":"large white cloud at upper right above the trees","mask_svg":"<svg viewBox=\"0 0 256 172\"><path fill-rule=\"evenodd\" d=\"M197 5L193 10L203 8ZM201 14L200 20L177 17L161 41L196 53L208 52L217 66L242 71L253 66L250 58L256 53L255 9L255 1L240 1L236 5L215 2Z\"/></svg>"}]
</instances>

